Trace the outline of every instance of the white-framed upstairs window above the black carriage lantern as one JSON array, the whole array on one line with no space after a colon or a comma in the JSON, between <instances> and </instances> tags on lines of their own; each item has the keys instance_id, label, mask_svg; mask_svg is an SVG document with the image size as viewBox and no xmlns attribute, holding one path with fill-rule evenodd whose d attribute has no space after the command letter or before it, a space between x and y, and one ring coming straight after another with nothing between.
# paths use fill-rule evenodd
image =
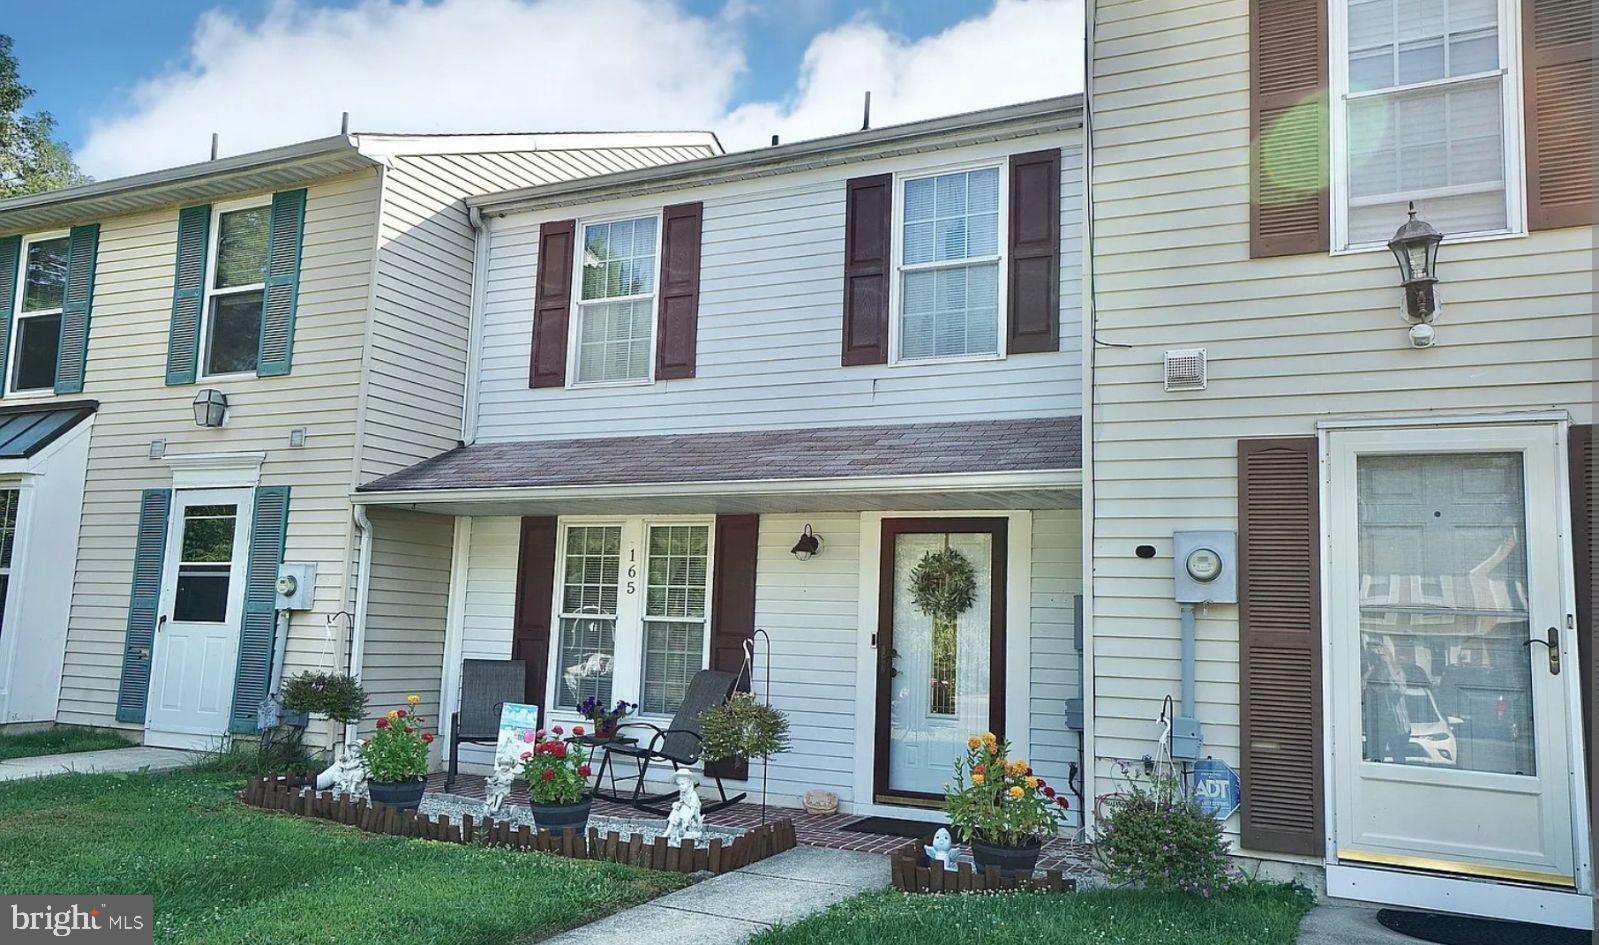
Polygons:
<instances>
[{"instance_id":1,"label":"white-framed upstairs window above the black carriage lantern","mask_svg":"<svg viewBox=\"0 0 1599 945\"><path fill-rule=\"evenodd\" d=\"M1508 0L1340 0L1334 16L1338 245L1386 241L1410 201L1450 237L1521 230Z\"/></svg>"}]
</instances>

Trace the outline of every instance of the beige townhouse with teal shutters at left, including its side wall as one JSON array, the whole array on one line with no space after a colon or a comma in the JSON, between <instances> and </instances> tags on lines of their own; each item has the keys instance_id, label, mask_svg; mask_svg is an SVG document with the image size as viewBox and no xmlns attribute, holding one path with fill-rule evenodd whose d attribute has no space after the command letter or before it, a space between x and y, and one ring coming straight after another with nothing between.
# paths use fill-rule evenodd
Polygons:
<instances>
[{"instance_id":1,"label":"beige townhouse with teal shutters at left, including its side wall","mask_svg":"<svg viewBox=\"0 0 1599 945\"><path fill-rule=\"evenodd\" d=\"M0 203L0 724L214 747L344 668L349 492L459 437L464 198L720 150L341 134Z\"/></svg>"}]
</instances>

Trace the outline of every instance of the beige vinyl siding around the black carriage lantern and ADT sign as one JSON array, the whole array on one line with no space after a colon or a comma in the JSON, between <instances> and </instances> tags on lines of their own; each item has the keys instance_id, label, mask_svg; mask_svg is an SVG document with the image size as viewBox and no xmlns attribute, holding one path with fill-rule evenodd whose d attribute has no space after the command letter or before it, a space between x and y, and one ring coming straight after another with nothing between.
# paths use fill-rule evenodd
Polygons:
<instances>
[{"instance_id":1,"label":"beige vinyl siding around the black carriage lantern and ADT sign","mask_svg":"<svg viewBox=\"0 0 1599 945\"><path fill-rule=\"evenodd\" d=\"M1097 3L1095 328L1110 342L1095 349L1092 397L1102 793L1115 790L1110 760L1154 750L1153 720L1177 696L1170 532L1238 528L1239 438L1303 437L1351 416L1564 408L1593 419L1593 229L1445 240L1428 350L1407 345L1386 249L1249 257L1247 27L1246 0ZM1172 347L1207 349L1207 390L1162 392ZM1138 544L1156 558L1135 558ZM1236 606L1199 616L1196 675L1206 752L1236 764Z\"/></svg>"}]
</instances>

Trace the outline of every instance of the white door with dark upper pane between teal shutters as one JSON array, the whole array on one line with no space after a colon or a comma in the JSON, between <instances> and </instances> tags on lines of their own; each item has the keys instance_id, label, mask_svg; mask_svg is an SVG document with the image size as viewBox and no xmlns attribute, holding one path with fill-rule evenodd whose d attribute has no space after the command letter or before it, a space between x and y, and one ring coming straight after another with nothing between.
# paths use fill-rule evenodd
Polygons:
<instances>
[{"instance_id":1,"label":"white door with dark upper pane between teal shutters","mask_svg":"<svg viewBox=\"0 0 1599 945\"><path fill-rule=\"evenodd\" d=\"M166 526L146 742L219 745L233 707L251 489L179 489Z\"/></svg>"}]
</instances>

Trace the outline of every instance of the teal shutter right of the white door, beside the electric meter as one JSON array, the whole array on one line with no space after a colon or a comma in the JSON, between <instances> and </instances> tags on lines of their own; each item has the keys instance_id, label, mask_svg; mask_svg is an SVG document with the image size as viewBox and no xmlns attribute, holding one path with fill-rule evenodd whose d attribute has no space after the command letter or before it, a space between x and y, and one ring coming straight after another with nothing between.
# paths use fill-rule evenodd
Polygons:
<instances>
[{"instance_id":1,"label":"teal shutter right of the white door, beside the electric meter","mask_svg":"<svg viewBox=\"0 0 1599 945\"><path fill-rule=\"evenodd\" d=\"M238 672L233 676L230 732L254 732L256 710L272 681L272 643L277 635L278 564L289 523L289 488L259 486L249 526L249 563L245 568L245 625L238 632Z\"/></svg>"}]
</instances>

